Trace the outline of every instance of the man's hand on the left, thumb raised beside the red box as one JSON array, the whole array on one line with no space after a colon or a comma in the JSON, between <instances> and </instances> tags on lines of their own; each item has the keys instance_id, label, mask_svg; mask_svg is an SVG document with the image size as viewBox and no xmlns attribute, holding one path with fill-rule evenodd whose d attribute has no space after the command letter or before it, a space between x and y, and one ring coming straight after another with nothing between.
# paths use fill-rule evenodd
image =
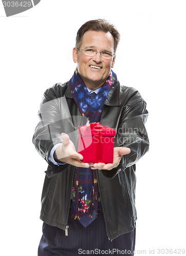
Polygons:
<instances>
[{"instance_id":1,"label":"man's hand on the left, thumb raised beside the red box","mask_svg":"<svg viewBox=\"0 0 186 256\"><path fill-rule=\"evenodd\" d=\"M82 162L83 156L76 152L75 146L67 134L61 133L61 139L63 145L56 148L54 152L55 160L69 163L76 167L88 168L91 166L91 164Z\"/></svg>"}]
</instances>

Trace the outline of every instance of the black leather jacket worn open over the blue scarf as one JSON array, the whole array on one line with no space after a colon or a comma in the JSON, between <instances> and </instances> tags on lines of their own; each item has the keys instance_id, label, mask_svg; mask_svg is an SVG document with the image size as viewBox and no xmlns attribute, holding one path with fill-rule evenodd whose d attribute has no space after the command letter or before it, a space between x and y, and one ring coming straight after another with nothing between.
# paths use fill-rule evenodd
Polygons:
<instances>
[{"instance_id":1,"label":"black leather jacket worn open over the blue scarf","mask_svg":"<svg viewBox=\"0 0 186 256\"><path fill-rule=\"evenodd\" d=\"M39 110L40 121L33 136L38 153L48 162L42 193L40 219L52 226L66 229L71 202L74 166L54 165L49 161L53 145L65 132L78 145L78 125L82 116L69 88L57 83L45 93ZM120 86L117 81L102 110L100 123L116 130L114 146L126 146L131 153L122 156L112 170L96 170L99 193L110 241L135 228L135 163L149 149L144 123L148 117L146 102L134 88Z\"/></svg>"}]
</instances>

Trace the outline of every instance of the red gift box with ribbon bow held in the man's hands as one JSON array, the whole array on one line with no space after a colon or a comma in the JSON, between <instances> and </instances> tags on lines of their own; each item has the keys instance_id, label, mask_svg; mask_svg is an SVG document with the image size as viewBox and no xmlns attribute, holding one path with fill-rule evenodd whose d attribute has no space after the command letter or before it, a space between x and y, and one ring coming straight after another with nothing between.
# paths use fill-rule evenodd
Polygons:
<instances>
[{"instance_id":1,"label":"red gift box with ribbon bow held in the man's hands","mask_svg":"<svg viewBox=\"0 0 186 256\"><path fill-rule=\"evenodd\" d=\"M114 136L116 131L100 122L89 126L78 126L78 153L84 163L112 163L114 155Z\"/></svg>"}]
</instances>

